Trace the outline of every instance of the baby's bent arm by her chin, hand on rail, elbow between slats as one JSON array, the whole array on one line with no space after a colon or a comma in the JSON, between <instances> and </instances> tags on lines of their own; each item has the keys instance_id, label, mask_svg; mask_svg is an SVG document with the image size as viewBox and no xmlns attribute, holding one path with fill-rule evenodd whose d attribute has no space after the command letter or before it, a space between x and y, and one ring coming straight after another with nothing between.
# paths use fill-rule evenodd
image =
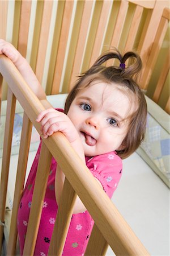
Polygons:
<instances>
[{"instance_id":1,"label":"baby's bent arm by her chin, hand on rail, elbow between slats","mask_svg":"<svg viewBox=\"0 0 170 256\"><path fill-rule=\"evenodd\" d=\"M61 131L85 163L82 141L79 137L78 131L76 131L73 123L71 122L70 118L67 117L66 114L50 108L41 112L38 115L36 121L41 123L41 133L44 136L44 138L48 138L48 136L52 135L55 131ZM55 179L55 192L57 204L59 204L61 198L64 180L65 175L63 174L61 168L57 166ZM84 210L86 210L86 208L84 207L79 197L77 197L73 213L83 212Z\"/></svg>"}]
</instances>

